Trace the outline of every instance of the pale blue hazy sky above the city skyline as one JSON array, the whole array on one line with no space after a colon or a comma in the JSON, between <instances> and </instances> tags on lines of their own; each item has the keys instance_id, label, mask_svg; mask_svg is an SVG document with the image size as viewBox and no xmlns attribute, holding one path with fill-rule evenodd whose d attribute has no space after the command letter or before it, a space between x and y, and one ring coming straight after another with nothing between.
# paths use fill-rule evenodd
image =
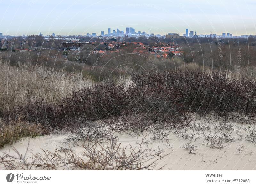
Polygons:
<instances>
[{"instance_id":1,"label":"pale blue hazy sky above the city skyline","mask_svg":"<svg viewBox=\"0 0 256 186\"><path fill-rule=\"evenodd\" d=\"M3 35L85 35L108 28L165 35L256 35L255 0L0 0Z\"/></svg>"}]
</instances>

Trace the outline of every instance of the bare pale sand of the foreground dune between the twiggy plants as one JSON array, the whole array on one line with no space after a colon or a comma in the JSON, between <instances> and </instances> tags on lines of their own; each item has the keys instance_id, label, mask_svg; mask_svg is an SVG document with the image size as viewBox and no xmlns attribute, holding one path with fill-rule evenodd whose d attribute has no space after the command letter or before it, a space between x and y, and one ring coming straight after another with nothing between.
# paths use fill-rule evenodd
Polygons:
<instances>
[{"instance_id":1,"label":"bare pale sand of the foreground dune between the twiggy plants","mask_svg":"<svg viewBox=\"0 0 256 186\"><path fill-rule=\"evenodd\" d=\"M237 126L237 124L234 124ZM238 124L238 126L240 126ZM246 134L246 131L244 131ZM136 146L137 142L142 139L142 136L131 137L129 135L122 135L115 133L119 140L117 143L121 143L122 146L127 146L131 144ZM245 138L239 140L239 136L236 135L236 132L233 130L233 135L235 136L236 141L231 143L223 143L223 148L221 149L212 149L206 145L207 141L201 137L197 141L192 141L191 143L196 144L197 150L194 153L188 154L183 148L185 143L188 143L188 140L182 140L177 137L177 135L170 133L168 136L169 145L166 141L163 142L153 142L150 139L150 135L146 137L149 139L148 147L153 150L163 149L164 154L170 153L165 158L161 159L157 167L163 167L163 170L256 170L256 144L246 141ZM34 139L24 138L21 141L13 144L12 146L8 145L5 148L0 150L0 155L6 152L10 155L15 155L13 147L15 147L20 153L24 154L30 140L29 151L32 153L42 153L43 150L54 151L55 149L60 148L60 146L65 146L65 135L50 135L50 136L40 136ZM239 145L244 146L242 150L238 150ZM146 147L146 144L143 144ZM170 147L172 147L170 149ZM79 153L82 151L81 147L76 148L76 151ZM157 168L156 167L156 168ZM0 167L4 169L4 167Z\"/></svg>"}]
</instances>

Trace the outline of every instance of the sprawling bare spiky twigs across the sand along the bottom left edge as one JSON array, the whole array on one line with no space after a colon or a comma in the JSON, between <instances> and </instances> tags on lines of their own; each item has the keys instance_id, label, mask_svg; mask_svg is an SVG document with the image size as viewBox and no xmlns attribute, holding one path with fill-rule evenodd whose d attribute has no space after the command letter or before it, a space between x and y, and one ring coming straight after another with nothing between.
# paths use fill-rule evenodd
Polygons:
<instances>
[{"instance_id":1,"label":"sprawling bare spiky twigs across the sand along the bottom left edge","mask_svg":"<svg viewBox=\"0 0 256 186\"><path fill-rule=\"evenodd\" d=\"M155 169L156 162L168 154L162 151L153 152L150 148L142 148L142 143L137 146L121 147L121 143L114 145L101 145L99 143L84 143L82 154L69 149L56 149L28 155L28 147L24 155L16 149L16 155L4 154L0 164L6 170L42 169L42 170L151 170ZM64 155L60 154L60 151ZM28 159L28 156L30 159ZM158 169L161 169L159 167Z\"/></svg>"}]
</instances>

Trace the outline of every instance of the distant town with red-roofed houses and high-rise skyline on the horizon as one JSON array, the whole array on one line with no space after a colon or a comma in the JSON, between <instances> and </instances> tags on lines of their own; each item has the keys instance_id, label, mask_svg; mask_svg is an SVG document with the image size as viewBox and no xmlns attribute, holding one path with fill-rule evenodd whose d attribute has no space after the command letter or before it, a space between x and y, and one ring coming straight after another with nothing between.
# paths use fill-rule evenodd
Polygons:
<instances>
[{"instance_id":1,"label":"distant town with red-roofed houses and high-rise skyline on the horizon","mask_svg":"<svg viewBox=\"0 0 256 186\"><path fill-rule=\"evenodd\" d=\"M127 27L125 32L119 30L111 30L108 28L108 33L101 31L100 35L96 33L87 33L86 35L43 35L39 32L37 35L28 36L10 36L0 33L1 48L0 51L35 51L38 55L43 50L57 50L61 51L62 55L82 55L83 51L87 51L92 55L103 55L108 53L122 53L131 50L131 53L139 55L151 55L156 58L172 58L180 57L184 54L184 42L192 43L227 43L225 40L236 38L256 38L255 35L241 35L234 36L232 33L223 33L216 35L209 33L209 35L197 34L189 29L185 30L185 34L180 36L177 33L168 33L166 35L151 33L151 30L135 31L133 27ZM206 39L206 40L205 40ZM203 41L205 40L205 41ZM211 41L210 41L211 40ZM243 41L244 43L246 41ZM236 41L232 41L236 45ZM207 43L206 43L207 44ZM129 45L134 47L131 49ZM88 53L88 54L89 54ZM189 54L187 54L189 55ZM81 58L76 58L75 61L84 62L85 53ZM52 58L55 58L52 56Z\"/></svg>"}]
</instances>

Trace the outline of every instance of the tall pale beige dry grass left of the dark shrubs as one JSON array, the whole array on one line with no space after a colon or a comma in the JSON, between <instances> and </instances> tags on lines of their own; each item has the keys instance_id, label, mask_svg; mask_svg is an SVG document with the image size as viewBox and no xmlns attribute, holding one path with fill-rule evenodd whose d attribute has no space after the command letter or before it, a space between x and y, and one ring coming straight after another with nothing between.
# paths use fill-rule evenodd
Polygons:
<instances>
[{"instance_id":1,"label":"tall pale beige dry grass left of the dark shrubs","mask_svg":"<svg viewBox=\"0 0 256 186\"><path fill-rule=\"evenodd\" d=\"M43 66L0 65L0 113L35 100L57 103L72 89L92 86L92 81L78 73L46 69Z\"/></svg>"}]
</instances>

